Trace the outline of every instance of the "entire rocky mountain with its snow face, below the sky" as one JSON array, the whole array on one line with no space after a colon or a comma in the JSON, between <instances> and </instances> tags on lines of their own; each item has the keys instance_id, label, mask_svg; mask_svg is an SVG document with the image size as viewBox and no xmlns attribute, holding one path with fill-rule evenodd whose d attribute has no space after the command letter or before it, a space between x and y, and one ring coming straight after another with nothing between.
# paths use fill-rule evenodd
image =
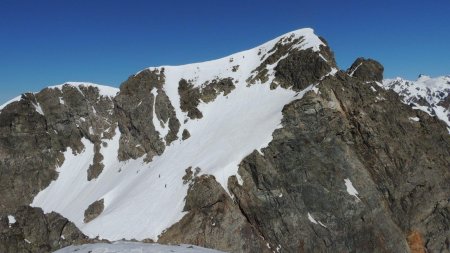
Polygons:
<instances>
[{"instance_id":1,"label":"entire rocky mountain with its snow face, below the sky","mask_svg":"<svg viewBox=\"0 0 450 253\"><path fill-rule=\"evenodd\" d=\"M0 108L0 216L31 205L90 238L228 252L448 252L447 125L382 78L371 59L339 71L301 29L120 90L24 94Z\"/></svg>"}]
</instances>

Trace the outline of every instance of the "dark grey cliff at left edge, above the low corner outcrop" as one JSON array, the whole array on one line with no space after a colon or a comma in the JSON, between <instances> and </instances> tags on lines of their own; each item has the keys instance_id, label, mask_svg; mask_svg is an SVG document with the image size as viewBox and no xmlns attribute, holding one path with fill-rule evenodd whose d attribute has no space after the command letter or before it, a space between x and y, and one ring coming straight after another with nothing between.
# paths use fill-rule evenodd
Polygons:
<instances>
[{"instance_id":1,"label":"dark grey cliff at left edge, above the low corner outcrop","mask_svg":"<svg viewBox=\"0 0 450 253\"><path fill-rule=\"evenodd\" d=\"M63 151L84 149L86 138L97 146L115 134L113 101L97 87L44 89L27 93L0 113L0 215L28 205L56 179ZM102 166L98 153L96 166ZM96 170L98 175L101 170Z\"/></svg>"}]
</instances>

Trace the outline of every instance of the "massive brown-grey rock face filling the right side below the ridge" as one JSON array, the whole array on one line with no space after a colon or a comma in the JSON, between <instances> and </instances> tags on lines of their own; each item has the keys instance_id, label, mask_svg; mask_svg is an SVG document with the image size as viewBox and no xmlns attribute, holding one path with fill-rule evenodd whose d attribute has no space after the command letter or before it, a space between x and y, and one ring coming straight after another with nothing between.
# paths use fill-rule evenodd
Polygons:
<instances>
[{"instance_id":1,"label":"massive brown-grey rock face filling the right side below the ridge","mask_svg":"<svg viewBox=\"0 0 450 253\"><path fill-rule=\"evenodd\" d=\"M284 108L283 128L263 155L244 159L243 185L229 180L240 209L272 248L409 252L407 238L416 231L429 252L448 250L445 125L370 85L344 73L326 78L319 94ZM344 179L358 198L347 193Z\"/></svg>"}]
</instances>

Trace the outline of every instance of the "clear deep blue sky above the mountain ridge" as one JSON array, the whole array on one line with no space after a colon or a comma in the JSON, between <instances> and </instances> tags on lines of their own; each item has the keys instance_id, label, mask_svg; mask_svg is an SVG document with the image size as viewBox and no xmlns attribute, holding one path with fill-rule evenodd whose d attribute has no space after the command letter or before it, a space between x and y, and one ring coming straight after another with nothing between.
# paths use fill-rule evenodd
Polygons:
<instances>
[{"instance_id":1,"label":"clear deep blue sky above the mountain ridge","mask_svg":"<svg viewBox=\"0 0 450 253\"><path fill-rule=\"evenodd\" d=\"M65 81L119 86L148 66L223 57L312 27L341 69L450 74L450 2L0 0L0 104Z\"/></svg>"}]
</instances>

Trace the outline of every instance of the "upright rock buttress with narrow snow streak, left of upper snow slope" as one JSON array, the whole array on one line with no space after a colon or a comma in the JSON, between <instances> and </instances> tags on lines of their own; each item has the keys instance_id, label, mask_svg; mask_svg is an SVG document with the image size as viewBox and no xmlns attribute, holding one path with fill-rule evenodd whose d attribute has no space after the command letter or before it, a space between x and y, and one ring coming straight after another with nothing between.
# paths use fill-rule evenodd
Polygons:
<instances>
[{"instance_id":1,"label":"upright rock buttress with narrow snow streak, left of upper snow slope","mask_svg":"<svg viewBox=\"0 0 450 253\"><path fill-rule=\"evenodd\" d=\"M120 87L115 98L120 132L119 159L136 159L147 155L147 161L161 155L165 145L178 138L180 122L163 90L164 70L144 70L131 76ZM157 92L156 97L154 91ZM156 110L156 111L155 111ZM168 127L167 136L160 136L152 124L153 115L162 126Z\"/></svg>"}]
</instances>

